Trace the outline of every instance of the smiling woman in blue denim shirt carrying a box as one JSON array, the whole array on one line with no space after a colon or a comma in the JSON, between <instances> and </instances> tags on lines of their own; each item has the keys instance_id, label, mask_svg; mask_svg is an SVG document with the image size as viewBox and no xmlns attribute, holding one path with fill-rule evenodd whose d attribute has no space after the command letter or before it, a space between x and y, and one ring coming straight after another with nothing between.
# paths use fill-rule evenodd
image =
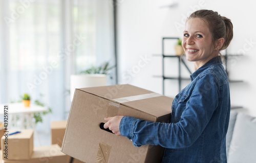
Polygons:
<instances>
[{"instance_id":1,"label":"smiling woman in blue denim shirt carrying a box","mask_svg":"<svg viewBox=\"0 0 256 163\"><path fill-rule=\"evenodd\" d=\"M163 162L226 162L229 122L229 83L220 51L233 37L230 19L211 10L192 13L185 25L182 46L194 62L191 82L175 97L171 123L131 117L109 117L105 128L145 144L165 148Z\"/></svg>"}]
</instances>

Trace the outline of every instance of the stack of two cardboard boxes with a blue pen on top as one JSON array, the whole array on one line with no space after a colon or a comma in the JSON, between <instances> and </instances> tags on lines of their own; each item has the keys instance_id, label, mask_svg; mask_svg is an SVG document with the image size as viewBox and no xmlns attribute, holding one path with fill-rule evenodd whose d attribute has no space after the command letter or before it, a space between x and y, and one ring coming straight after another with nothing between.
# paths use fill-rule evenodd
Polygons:
<instances>
[{"instance_id":1,"label":"stack of two cardboard boxes with a blue pen on top","mask_svg":"<svg viewBox=\"0 0 256 163\"><path fill-rule=\"evenodd\" d=\"M35 147L33 146L33 130L24 129L20 133L7 135L13 132L6 132L1 138L2 162L8 163L37 163L50 162L62 163L67 161L67 155L60 152L60 147L56 145Z\"/></svg>"}]
</instances>

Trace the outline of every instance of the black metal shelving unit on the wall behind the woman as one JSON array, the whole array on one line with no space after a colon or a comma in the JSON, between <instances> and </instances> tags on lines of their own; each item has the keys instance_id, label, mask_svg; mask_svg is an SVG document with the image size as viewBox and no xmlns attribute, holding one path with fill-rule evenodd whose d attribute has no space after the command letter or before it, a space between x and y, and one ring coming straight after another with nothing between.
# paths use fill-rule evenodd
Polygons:
<instances>
[{"instance_id":1,"label":"black metal shelving unit on the wall behind the woman","mask_svg":"<svg viewBox=\"0 0 256 163\"><path fill-rule=\"evenodd\" d=\"M162 57L162 76L154 76L154 77L160 77L163 79L162 81L162 89L163 89L163 95L164 95L164 87L165 87L165 84L164 84L164 81L165 80L178 80L178 83L179 83L179 91L181 91L181 81L182 80L191 80L190 78L182 78L181 77L181 63L185 66L185 68L187 69L187 71L192 74L192 72L190 71L190 69L188 68L188 66L186 65L186 63L184 62L183 60L183 56L177 56L177 55L165 55L164 54L164 40L166 39L179 39L178 37L163 37L162 38L162 55L153 55L153 56L161 56ZM223 55L224 57L224 64L225 64L225 70L226 70L226 73L228 74L228 59L230 57L238 57L238 56L243 56L241 54L227 54L227 50L225 51L225 55ZM164 59L165 58L176 58L178 60L178 77L167 77L164 75ZM229 83L240 83L240 82L243 82L243 80L229 80ZM238 108L243 108L242 106L231 106L231 109L238 109Z\"/></svg>"}]
</instances>

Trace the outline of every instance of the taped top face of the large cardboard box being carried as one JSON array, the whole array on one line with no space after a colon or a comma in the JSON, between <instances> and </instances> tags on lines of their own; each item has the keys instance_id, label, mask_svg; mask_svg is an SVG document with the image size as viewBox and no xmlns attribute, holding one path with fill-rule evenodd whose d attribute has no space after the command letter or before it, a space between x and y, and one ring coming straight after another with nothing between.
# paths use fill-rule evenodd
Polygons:
<instances>
[{"instance_id":1,"label":"taped top face of the large cardboard box being carried","mask_svg":"<svg viewBox=\"0 0 256 163\"><path fill-rule=\"evenodd\" d=\"M173 98L129 84L79 88L79 90L146 112L157 118L172 111Z\"/></svg>"}]
</instances>

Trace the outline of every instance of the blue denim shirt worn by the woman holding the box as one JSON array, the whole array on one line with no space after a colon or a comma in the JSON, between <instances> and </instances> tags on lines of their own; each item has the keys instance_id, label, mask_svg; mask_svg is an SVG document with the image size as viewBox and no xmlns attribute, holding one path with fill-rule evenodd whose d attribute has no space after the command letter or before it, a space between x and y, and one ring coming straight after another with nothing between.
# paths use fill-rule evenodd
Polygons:
<instances>
[{"instance_id":1,"label":"blue denim shirt worn by the woman holding the box","mask_svg":"<svg viewBox=\"0 0 256 163\"><path fill-rule=\"evenodd\" d=\"M205 63L190 78L173 101L170 123L123 117L120 133L136 147L164 147L163 163L227 162L230 97L220 56Z\"/></svg>"}]
</instances>

